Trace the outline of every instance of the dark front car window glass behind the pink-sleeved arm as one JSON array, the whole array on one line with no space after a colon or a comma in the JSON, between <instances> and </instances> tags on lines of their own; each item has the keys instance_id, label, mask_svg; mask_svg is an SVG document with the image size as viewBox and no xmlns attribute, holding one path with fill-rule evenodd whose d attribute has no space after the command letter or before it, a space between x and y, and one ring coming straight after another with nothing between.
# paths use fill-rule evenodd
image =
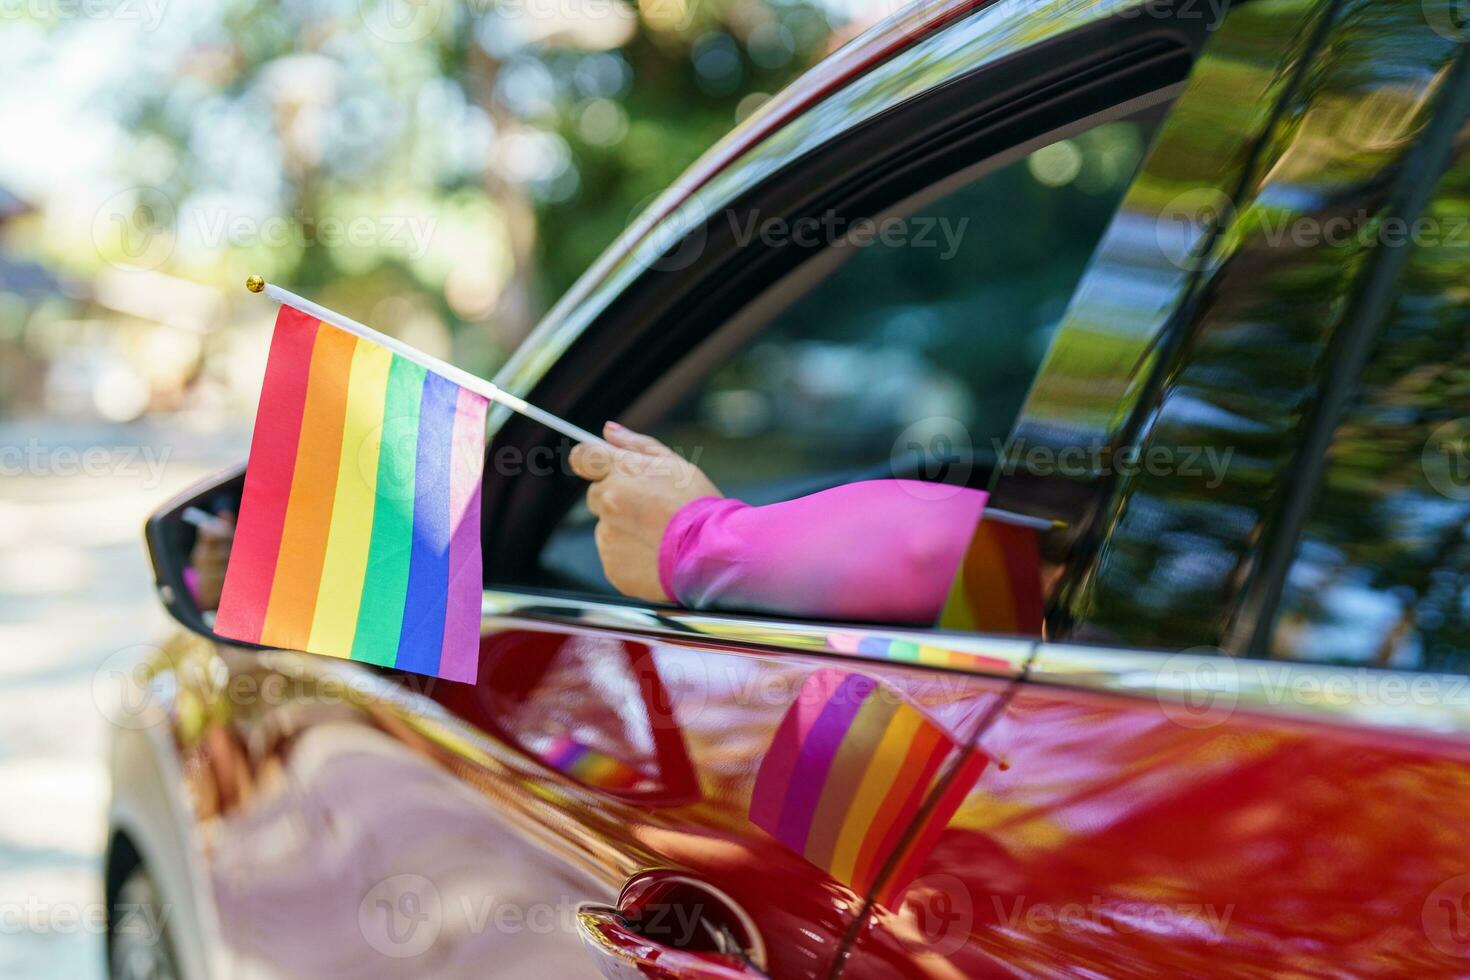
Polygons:
<instances>
[{"instance_id":1,"label":"dark front car window glass behind the pink-sleeved arm","mask_svg":"<svg viewBox=\"0 0 1470 980\"><path fill-rule=\"evenodd\" d=\"M739 341L717 359L676 364L676 394L644 428L753 504L888 476L986 486L1163 112L1057 140L898 216L751 219L744 234L764 247L831 244L828 270L732 325ZM573 507L541 566L612 591L591 526Z\"/></svg>"}]
</instances>

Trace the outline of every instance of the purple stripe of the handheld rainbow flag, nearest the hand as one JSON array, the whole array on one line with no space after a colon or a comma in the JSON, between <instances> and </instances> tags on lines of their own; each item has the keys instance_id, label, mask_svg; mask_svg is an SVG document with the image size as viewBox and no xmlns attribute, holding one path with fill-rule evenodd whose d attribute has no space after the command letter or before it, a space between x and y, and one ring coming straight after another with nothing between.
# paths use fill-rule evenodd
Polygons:
<instances>
[{"instance_id":1,"label":"purple stripe of the handheld rainbow flag, nearest the hand","mask_svg":"<svg viewBox=\"0 0 1470 980\"><path fill-rule=\"evenodd\" d=\"M485 591L479 552L479 488L485 473L485 411L490 403L460 388L450 460L450 583L444 611L440 677L475 683L479 673L479 613Z\"/></svg>"}]
</instances>

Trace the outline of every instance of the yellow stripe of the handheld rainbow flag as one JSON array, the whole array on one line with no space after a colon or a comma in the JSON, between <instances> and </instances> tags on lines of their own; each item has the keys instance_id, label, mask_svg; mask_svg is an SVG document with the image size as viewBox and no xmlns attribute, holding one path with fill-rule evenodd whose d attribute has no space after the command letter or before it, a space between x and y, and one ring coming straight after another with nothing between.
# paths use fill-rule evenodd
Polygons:
<instances>
[{"instance_id":1,"label":"yellow stripe of the handheld rainbow flag","mask_svg":"<svg viewBox=\"0 0 1470 980\"><path fill-rule=\"evenodd\" d=\"M378 491L378 450L382 411L388 395L392 351L359 342L347 386L347 417L337 469L337 500L322 560L322 585L312 619L312 652L351 658L372 544L372 516Z\"/></svg>"}]
</instances>

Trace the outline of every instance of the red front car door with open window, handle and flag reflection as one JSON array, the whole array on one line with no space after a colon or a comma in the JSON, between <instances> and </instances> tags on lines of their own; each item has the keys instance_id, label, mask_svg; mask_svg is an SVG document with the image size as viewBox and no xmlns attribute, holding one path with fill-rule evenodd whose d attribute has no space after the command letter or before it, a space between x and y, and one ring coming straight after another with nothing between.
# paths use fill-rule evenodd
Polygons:
<instances>
[{"instance_id":1,"label":"red front car door with open window, handle and flag reflection","mask_svg":"<svg viewBox=\"0 0 1470 980\"><path fill-rule=\"evenodd\" d=\"M782 122L756 145L697 169L500 381L582 425L692 433L685 448L734 464L756 501L864 475L983 486L1207 32L1161 10L1066 3L1038 21L1003 0L897 21L825 90L778 101ZM966 195L992 178L1001 194ZM835 238L828 215L847 222ZM913 219L945 216L1019 231L931 262L936 222ZM886 253L854 244L878 219L907 222L867 237ZM885 269L875 317L853 282ZM953 304L929 301L933 284ZM979 342L932 342L957 326ZM741 382L761 364L814 382ZM839 379L832 364L923 397L898 383L854 407L820 383ZM797 388L817 401L772 401ZM1029 639L616 597L589 561L566 448L492 420L476 685L194 639L169 651L157 677L179 691L179 808L203 842L219 962L245 976L831 976L866 905L923 857L911 829L945 826L935 795L970 780L966 746L1013 692ZM844 738L808 746L823 718Z\"/></svg>"}]
</instances>

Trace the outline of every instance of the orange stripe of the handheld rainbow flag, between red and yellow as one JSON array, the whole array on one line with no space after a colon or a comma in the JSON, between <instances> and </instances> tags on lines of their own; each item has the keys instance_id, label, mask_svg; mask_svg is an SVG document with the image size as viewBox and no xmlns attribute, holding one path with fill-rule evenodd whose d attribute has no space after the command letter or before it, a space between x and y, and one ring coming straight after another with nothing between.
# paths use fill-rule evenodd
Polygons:
<instances>
[{"instance_id":1,"label":"orange stripe of the handheld rainbow flag, between red and yellow","mask_svg":"<svg viewBox=\"0 0 1470 980\"><path fill-rule=\"evenodd\" d=\"M357 338L326 323L312 348L312 373L301 413L301 439L291 478L281 532L282 561L270 585L270 605L260 642L287 649L306 649L312 639L312 617L322 580L326 535L332 526L337 470L343 453L343 420L347 414L347 382L351 378ZM290 557L290 560L285 560Z\"/></svg>"}]
</instances>

